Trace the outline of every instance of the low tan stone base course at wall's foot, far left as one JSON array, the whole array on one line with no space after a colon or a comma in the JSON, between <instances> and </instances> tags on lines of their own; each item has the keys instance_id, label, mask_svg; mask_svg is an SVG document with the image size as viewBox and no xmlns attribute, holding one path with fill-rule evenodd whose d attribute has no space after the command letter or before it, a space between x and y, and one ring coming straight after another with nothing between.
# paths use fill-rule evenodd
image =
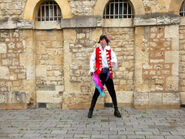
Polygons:
<instances>
[{"instance_id":1,"label":"low tan stone base course at wall's foot, far left","mask_svg":"<svg viewBox=\"0 0 185 139\"><path fill-rule=\"evenodd\" d=\"M27 109L26 103L9 103L9 104L0 104L1 110L25 110Z\"/></svg>"}]
</instances>

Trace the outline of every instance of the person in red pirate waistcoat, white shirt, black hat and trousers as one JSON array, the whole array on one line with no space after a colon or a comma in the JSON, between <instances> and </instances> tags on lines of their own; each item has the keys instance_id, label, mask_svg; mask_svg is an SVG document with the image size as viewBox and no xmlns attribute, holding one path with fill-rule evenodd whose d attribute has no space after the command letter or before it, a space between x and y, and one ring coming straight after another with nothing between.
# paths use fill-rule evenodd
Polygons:
<instances>
[{"instance_id":1,"label":"person in red pirate waistcoat, white shirt, black hat and trousers","mask_svg":"<svg viewBox=\"0 0 185 139\"><path fill-rule=\"evenodd\" d=\"M102 84L106 85L107 90L113 101L114 115L120 118L121 114L117 106L116 92L114 89L113 73L112 73L112 67L117 67L117 58L114 51L109 46L109 42L110 42L110 39L107 36L105 35L100 36L100 39L98 42L99 44L95 48L90 58L90 74L91 75L93 75L94 73L98 74ZM94 69L94 65L95 65L95 69ZM88 118L92 118L93 110L99 95L100 93L96 88L89 108Z\"/></svg>"}]
</instances>

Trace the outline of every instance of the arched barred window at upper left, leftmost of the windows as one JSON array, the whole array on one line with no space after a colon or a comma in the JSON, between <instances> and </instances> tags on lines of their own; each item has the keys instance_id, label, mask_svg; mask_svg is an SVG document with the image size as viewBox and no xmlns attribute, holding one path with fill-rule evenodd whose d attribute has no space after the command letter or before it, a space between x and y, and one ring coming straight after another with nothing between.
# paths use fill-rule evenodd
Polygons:
<instances>
[{"instance_id":1,"label":"arched barred window at upper left, leftmost of the windows","mask_svg":"<svg viewBox=\"0 0 185 139\"><path fill-rule=\"evenodd\" d=\"M47 1L40 5L37 12L37 21L60 21L62 18L61 10L54 1Z\"/></svg>"}]
</instances>

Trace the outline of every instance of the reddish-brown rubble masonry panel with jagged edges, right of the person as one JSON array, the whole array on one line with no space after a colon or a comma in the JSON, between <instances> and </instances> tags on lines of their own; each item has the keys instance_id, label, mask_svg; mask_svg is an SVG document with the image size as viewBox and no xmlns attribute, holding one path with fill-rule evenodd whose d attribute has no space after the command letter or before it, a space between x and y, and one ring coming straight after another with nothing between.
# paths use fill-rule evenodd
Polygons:
<instances>
[{"instance_id":1,"label":"reddish-brown rubble masonry panel with jagged edges, right of the person","mask_svg":"<svg viewBox=\"0 0 185 139\"><path fill-rule=\"evenodd\" d=\"M143 64L142 74L144 82L150 83L150 91L166 91L167 79L172 75L172 63L165 62L172 42L164 37L164 29L163 26L149 28L150 36L143 42L142 51L148 51L148 59Z\"/></svg>"}]
</instances>

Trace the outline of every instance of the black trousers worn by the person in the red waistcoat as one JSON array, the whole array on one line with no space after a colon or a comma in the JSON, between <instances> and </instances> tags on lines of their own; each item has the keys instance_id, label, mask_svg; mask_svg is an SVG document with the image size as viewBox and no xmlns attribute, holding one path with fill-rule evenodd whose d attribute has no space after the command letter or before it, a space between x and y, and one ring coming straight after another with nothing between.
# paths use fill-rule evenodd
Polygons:
<instances>
[{"instance_id":1,"label":"black trousers worn by the person in the red waistcoat","mask_svg":"<svg viewBox=\"0 0 185 139\"><path fill-rule=\"evenodd\" d=\"M114 108L117 108L117 99L116 99L116 92L115 92L115 89L114 89L113 80L109 78L107 81L105 81L106 80L106 76L107 76L107 74L103 74L103 73L101 73L99 75L102 84L105 84L106 87L107 87L107 90L108 90L108 92L109 92L109 94L110 94L110 96L112 98L112 102L114 104ZM97 101L99 95L100 95L100 93L99 93L98 89L95 88L94 95L93 95L93 98L92 98L92 101L91 101L91 106L90 106L91 110L94 109L94 107L96 105L96 101Z\"/></svg>"}]
</instances>

